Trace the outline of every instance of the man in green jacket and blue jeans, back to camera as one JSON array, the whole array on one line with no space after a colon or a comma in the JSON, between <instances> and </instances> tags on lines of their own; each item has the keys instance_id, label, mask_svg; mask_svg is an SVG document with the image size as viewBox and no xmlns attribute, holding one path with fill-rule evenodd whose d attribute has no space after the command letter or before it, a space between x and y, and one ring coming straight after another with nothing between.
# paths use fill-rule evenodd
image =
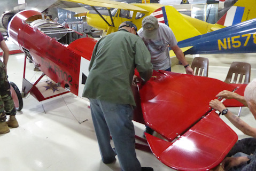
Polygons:
<instances>
[{"instance_id":1,"label":"man in green jacket and blue jeans, back to camera","mask_svg":"<svg viewBox=\"0 0 256 171\"><path fill-rule=\"evenodd\" d=\"M135 152L131 91L134 69L143 81L152 75L150 53L130 21L122 22L118 32L101 38L92 53L89 75L83 97L90 100L91 115L105 164L115 161L117 154L123 171L152 171L141 167ZM114 149L110 144L110 135Z\"/></svg>"}]
</instances>

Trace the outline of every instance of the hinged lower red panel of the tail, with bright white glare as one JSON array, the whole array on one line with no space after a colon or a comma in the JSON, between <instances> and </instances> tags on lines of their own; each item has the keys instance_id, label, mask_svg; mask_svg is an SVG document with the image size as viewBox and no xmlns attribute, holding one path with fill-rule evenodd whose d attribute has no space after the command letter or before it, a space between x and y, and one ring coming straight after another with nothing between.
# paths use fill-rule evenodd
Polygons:
<instances>
[{"instance_id":1,"label":"hinged lower red panel of the tail, with bright white glare","mask_svg":"<svg viewBox=\"0 0 256 171\"><path fill-rule=\"evenodd\" d=\"M219 165L237 141L236 133L212 111L174 143L146 134L153 154L177 170L209 170Z\"/></svg>"}]
</instances>

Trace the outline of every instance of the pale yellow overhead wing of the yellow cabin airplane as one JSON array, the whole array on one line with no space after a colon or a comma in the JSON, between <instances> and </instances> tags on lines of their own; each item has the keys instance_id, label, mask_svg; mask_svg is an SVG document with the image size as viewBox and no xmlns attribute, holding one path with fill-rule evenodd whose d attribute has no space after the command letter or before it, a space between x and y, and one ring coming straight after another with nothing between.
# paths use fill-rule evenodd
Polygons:
<instances>
[{"instance_id":1,"label":"pale yellow overhead wing of the yellow cabin airplane","mask_svg":"<svg viewBox=\"0 0 256 171\"><path fill-rule=\"evenodd\" d=\"M141 7L138 7L135 5L115 2L115 1L108 1L108 0L62 0L62 1L82 3L90 6L101 6L101 7L108 7L108 8L114 8L114 9L148 12L147 10L144 10Z\"/></svg>"}]
</instances>

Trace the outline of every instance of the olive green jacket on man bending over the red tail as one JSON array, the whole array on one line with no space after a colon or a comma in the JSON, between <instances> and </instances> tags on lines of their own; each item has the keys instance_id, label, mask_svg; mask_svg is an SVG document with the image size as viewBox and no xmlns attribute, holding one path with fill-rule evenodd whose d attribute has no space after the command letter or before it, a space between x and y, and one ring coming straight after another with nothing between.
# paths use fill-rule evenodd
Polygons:
<instances>
[{"instance_id":1,"label":"olive green jacket on man bending over the red tail","mask_svg":"<svg viewBox=\"0 0 256 171\"><path fill-rule=\"evenodd\" d=\"M92 53L83 97L135 106L131 83L134 69L148 81L151 56L139 36L125 29L101 38Z\"/></svg>"}]
</instances>

